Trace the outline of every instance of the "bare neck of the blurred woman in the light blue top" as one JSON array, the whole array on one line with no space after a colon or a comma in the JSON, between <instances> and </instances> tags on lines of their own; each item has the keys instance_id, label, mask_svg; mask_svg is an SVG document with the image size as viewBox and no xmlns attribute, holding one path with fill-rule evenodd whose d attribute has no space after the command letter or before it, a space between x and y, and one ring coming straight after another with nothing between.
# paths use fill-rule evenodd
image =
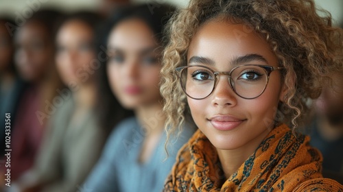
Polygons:
<instances>
[{"instance_id":1,"label":"bare neck of the blurred woman in the light blue top","mask_svg":"<svg viewBox=\"0 0 343 192\"><path fill-rule=\"evenodd\" d=\"M148 134L159 134L163 131L166 117L159 101L149 106L140 106L134 113Z\"/></svg>"}]
</instances>

